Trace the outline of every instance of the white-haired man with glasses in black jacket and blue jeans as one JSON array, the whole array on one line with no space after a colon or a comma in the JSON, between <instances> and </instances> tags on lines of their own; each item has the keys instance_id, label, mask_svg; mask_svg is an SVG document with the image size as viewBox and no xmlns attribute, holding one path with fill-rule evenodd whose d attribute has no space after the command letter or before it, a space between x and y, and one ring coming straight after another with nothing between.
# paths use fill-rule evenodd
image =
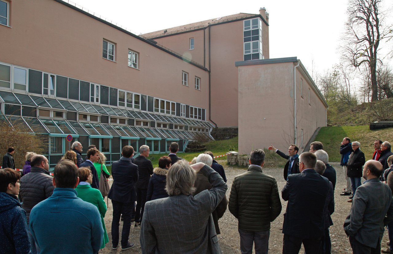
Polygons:
<instances>
[{"instance_id":1,"label":"white-haired man with glasses in black jacket and blue jeans","mask_svg":"<svg viewBox=\"0 0 393 254\"><path fill-rule=\"evenodd\" d=\"M358 141L352 142L352 153L349 155L347 168L348 168L348 177L351 179L351 185L353 190L353 195L349 197L348 202L352 202L352 198L355 195L356 188L362 185L362 169L363 165L366 162L364 158L364 153L360 150L360 143Z\"/></svg>"}]
</instances>

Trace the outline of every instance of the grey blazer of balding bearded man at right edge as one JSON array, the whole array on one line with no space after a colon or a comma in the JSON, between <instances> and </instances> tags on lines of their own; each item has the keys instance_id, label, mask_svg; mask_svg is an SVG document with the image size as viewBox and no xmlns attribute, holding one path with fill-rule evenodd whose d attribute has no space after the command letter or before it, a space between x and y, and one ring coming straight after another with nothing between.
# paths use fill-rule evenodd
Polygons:
<instances>
[{"instance_id":1,"label":"grey blazer of balding bearded man at right edge","mask_svg":"<svg viewBox=\"0 0 393 254\"><path fill-rule=\"evenodd\" d=\"M387 217L385 217L387 215ZM376 248L384 225L393 220L392 192L379 178L367 180L356 189L344 230L360 243Z\"/></svg>"}]
</instances>

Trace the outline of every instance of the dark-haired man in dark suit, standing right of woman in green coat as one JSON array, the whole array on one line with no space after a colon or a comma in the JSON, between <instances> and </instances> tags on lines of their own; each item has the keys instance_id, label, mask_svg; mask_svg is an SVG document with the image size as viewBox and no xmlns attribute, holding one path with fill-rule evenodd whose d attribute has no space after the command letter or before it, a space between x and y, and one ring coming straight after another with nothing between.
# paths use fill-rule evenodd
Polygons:
<instances>
[{"instance_id":1,"label":"dark-haired man in dark suit, standing right of woman in green coat","mask_svg":"<svg viewBox=\"0 0 393 254\"><path fill-rule=\"evenodd\" d=\"M119 221L123 214L123 230L121 232L121 249L127 250L134 247L129 243L131 227L131 213L136 200L135 183L138 181L138 166L132 164L131 157L134 155L132 146L124 146L119 161L112 163L113 184L108 198L112 200L112 249L116 250L119 245Z\"/></svg>"}]
</instances>

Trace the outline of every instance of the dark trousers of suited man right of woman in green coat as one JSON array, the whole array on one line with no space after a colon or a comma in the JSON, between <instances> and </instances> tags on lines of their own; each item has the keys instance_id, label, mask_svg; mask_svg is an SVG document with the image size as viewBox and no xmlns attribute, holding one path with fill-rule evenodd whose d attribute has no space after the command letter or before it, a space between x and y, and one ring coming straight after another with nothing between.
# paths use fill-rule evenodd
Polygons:
<instances>
[{"instance_id":1,"label":"dark trousers of suited man right of woman in green coat","mask_svg":"<svg viewBox=\"0 0 393 254\"><path fill-rule=\"evenodd\" d=\"M121 231L121 246L127 246L130 236L131 213L135 202L123 203L112 200L113 220L112 220L112 245L119 244L119 222L120 216L123 214L123 230Z\"/></svg>"}]
</instances>

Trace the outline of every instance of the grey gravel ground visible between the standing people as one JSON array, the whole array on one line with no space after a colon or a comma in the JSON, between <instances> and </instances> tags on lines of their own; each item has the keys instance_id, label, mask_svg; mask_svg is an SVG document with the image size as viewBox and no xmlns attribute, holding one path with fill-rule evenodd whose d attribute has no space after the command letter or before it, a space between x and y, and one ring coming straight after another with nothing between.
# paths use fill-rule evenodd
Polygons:
<instances>
[{"instance_id":1,"label":"grey gravel ground visible between the standing people","mask_svg":"<svg viewBox=\"0 0 393 254\"><path fill-rule=\"evenodd\" d=\"M228 179L228 191L226 192L227 198L229 198L230 189L232 185L233 178L236 175L242 174L246 172L246 169L238 169L233 168L231 166L226 165L226 161L219 161L225 168L225 174ZM332 166L336 168L337 172L337 183L336 189L334 191L334 201L335 201L335 211L332 214L332 220L334 225L330 227L330 235L332 241L332 253L352 253L351 246L349 245L349 241L345 232L343 230L343 223L349 210L351 209L351 203L347 202L348 196L340 196L342 189L345 185L345 179L342 167L339 166L338 163L332 163ZM263 168L263 172L268 175L272 175L277 180L278 189L281 190L285 181L283 179L283 168ZM364 180L364 179L363 179ZM281 196L281 194L280 194ZM105 199L107 202L107 199ZM282 253L283 248L283 234L281 232L281 228L283 225L283 214L286 209L286 201L281 199L281 204L283 209L281 214L271 223L270 229L270 239L269 239L269 252L270 253ZM120 246L117 250L112 250L112 238L111 238L111 222L112 222L112 204L109 201L108 211L105 216L105 225L108 232L109 243L107 243L104 249L100 250L100 254L104 253L141 253L140 243L139 243L139 233L140 228L134 227L134 224L131 225L131 232L129 241L134 243L135 246L132 249L122 251ZM233 217L233 215L227 209L224 216L219 220L221 234L219 235L219 242L222 249L222 253L224 254L238 254L240 252L240 238L239 232L237 231L237 219ZM121 227L122 223L120 223L120 235L121 235ZM384 238L382 239L382 248L386 248L387 238L387 230L384 234ZM254 252L255 253L255 252ZM300 251L303 252L303 248Z\"/></svg>"}]
</instances>

